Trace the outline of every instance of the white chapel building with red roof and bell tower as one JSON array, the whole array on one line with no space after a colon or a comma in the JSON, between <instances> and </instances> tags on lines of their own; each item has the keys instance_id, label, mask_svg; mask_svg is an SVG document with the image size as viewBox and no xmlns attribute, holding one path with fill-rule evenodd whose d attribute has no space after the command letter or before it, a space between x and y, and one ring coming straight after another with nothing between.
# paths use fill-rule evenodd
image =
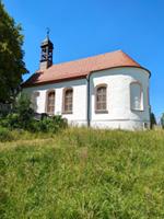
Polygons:
<instances>
[{"instance_id":1,"label":"white chapel building with red roof and bell tower","mask_svg":"<svg viewBox=\"0 0 164 219\"><path fill-rule=\"evenodd\" d=\"M52 65L42 43L39 70L23 84L36 113L62 115L70 125L112 129L150 127L150 71L121 50Z\"/></svg>"}]
</instances>

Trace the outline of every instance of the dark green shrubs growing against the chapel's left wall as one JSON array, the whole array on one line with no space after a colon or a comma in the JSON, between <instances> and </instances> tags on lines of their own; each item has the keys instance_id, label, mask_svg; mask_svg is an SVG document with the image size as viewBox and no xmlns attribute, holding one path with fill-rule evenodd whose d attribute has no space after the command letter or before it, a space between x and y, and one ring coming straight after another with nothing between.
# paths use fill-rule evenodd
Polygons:
<instances>
[{"instance_id":1,"label":"dark green shrubs growing against the chapel's left wall","mask_svg":"<svg viewBox=\"0 0 164 219\"><path fill-rule=\"evenodd\" d=\"M9 129L57 132L67 127L67 120L61 116L48 115L42 115L39 120L35 119L28 96L21 94L15 101L12 113L0 118L0 125Z\"/></svg>"}]
</instances>

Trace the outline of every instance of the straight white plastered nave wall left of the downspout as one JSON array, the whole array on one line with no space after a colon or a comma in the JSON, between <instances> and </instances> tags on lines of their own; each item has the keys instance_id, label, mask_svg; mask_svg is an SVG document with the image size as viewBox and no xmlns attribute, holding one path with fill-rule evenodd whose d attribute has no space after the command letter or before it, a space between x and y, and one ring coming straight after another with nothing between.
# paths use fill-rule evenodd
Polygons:
<instances>
[{"instance_id":1,"label":"straight white plastered nave wall left of the downspout","mask_svg":"<svg viewBox=\"0 0 164 219\"><path fill-rule=\"evenodd\" d=\"M45 84L33 88L23 89L24 93L30 96L34 92L39 92L37 97L37 113L46 112L46 93L49 90L55 90L55 114L62 114L62 92L65 88L73 89L73 113L63 114L62 117L67 118L69 124L85 125L86 126L86 79L66 81L60 83Z\"/></svg>"}]
</instances>

